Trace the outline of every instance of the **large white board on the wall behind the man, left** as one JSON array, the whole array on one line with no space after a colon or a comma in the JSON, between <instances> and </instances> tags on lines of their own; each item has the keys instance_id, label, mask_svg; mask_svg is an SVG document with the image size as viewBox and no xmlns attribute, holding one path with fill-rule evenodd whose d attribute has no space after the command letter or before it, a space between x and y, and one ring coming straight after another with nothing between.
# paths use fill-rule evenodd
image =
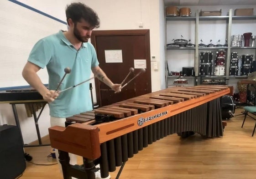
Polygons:
<instances>
[{"instance_id":1,"label":"large white board on the wall behind the man, left","mask_svg":"<svg viewBox=\"0 0 256 179\"><path fill-rule=\"evenodd\" d=\"M9 0L0 1L0 88L27 86L21 72L34 44L41 38L67 30L57 20ZM38 72L48 83L47 70Z\"/></svg>"}]
</instances>

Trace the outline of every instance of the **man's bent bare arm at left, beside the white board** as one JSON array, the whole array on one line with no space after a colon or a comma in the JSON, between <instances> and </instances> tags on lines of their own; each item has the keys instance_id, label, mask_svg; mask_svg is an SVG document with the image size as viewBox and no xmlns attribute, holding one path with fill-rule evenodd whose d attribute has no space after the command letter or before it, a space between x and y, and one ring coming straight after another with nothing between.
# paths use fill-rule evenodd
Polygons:
<instances>
[{"instance_id":1,"label":"man's bent bare arm at left, beside the white board","mask_svg":"<svg viewBox=\"0 0 256 179\"><path fill-rule=\"evenodd\" d=\"M26 65L23 68L22 76L31 85L31 87L35 88L47 102L52 102L58 96L58 93L53 90L48 90L38 77L37 72L41 68L29 61L26 62Z\"/></svg>"}]
</instances>

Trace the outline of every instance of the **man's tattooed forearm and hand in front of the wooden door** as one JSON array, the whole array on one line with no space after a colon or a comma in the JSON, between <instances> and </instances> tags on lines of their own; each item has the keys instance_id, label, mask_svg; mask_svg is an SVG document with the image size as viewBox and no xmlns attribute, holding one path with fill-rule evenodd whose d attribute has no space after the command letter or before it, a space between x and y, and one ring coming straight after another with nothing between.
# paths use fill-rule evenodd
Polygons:
<instances>
[{"instance_id":1,"label":"man's tattooed forearm and hand in front of the wooden door","mask_svg":"<svg viewBox=\"0 0 256 179\"><path fill-rule=\"evenodd\" d=\"M121 85L114 84L113 82L111 82L111 80L107 77L107 75L103 72L103 70L99 66L92 67L92 72L94 73L95 77L97 77L101 82L104 82L115 92L121 91Z\"/></svg>"}]
</instances>

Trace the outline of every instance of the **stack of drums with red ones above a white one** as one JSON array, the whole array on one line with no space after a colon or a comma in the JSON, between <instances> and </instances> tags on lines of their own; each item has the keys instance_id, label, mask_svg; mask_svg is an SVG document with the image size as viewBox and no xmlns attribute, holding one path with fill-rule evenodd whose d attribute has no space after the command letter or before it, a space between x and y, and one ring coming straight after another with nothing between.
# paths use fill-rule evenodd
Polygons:
<instances>
[{"instance_id":1,"label":"stack of drums with red ones above a white one","mask_svg":"<svg viewBox=\"0 0 256 179\"><path fill-rule=\"evenodd\" d=\"M225 50L219 49L216 52L216 61L215 61L215 76L225 76Z\"/></svg>"}]
</instances>

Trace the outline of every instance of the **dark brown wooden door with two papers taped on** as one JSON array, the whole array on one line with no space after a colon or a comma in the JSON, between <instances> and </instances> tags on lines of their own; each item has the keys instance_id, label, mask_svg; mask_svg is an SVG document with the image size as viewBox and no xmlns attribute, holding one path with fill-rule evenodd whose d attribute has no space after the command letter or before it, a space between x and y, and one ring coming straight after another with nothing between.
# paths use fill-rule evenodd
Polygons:
<instances>
[{"instance_id":1,"label":"dark brown wooden door with two papers taped on","mask_svg":"<svg viewBox=\"0 0 256 179\"><path fill-rule=\"evenodd\" d=\"M114 93L110 87L95 79L96 98L99 106L152 92L149 30L93 31L91 43L95 47L100 68L114 83L121 83L125 79L129 69L134 68L134 60L146 60L146 72L131 81L120 93ZM105 50L121 50L122 62L106 62ZM141 69L135 69L125 83L140 71Z\"/></svg>"}]
</instances>

